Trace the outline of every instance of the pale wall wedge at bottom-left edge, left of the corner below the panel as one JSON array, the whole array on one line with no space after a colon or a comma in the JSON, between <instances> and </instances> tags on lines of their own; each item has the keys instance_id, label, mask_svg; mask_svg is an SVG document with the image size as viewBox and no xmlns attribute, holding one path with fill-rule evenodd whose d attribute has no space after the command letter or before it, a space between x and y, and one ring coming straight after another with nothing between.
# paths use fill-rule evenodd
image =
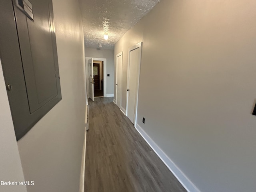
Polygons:
<instances>
[{"instance_id":1,"label":"pale wall wedge at bottom-left edge, left of the corner below the panel","mask_svg":"<svg viewBox=\"0 0 256 192\"><path fill-rule=\"evenodd\" d=\"M12 115L8 102L2 64L0 60L0 182L23 182L24 175L18 152L18 145L12 124ZM3 192L26 192L26 186L2 186Z\"/></svg>"}]
</instances>

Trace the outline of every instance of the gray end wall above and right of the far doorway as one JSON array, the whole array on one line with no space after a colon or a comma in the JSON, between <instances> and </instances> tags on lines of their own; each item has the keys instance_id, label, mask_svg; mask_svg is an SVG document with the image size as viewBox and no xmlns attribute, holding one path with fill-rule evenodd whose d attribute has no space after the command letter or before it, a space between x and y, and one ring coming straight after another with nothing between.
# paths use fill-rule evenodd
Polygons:
<instances>
[{"instance_id":1,"label":"gray end wall above and right of the far doorway","mask_svg":"<svg viewBox=\"0 0 256 192\"><path fill-rule=\"evenodd\" d=\"M97 48L85 48L85 56L88 58L106 58L107 59L107 93L106 94L114 94L114 50L110 49L97 49ZM87 64L86 60L86 64ZM105 70L105 69L103 69Z\"/></svg>"}]
</instances>

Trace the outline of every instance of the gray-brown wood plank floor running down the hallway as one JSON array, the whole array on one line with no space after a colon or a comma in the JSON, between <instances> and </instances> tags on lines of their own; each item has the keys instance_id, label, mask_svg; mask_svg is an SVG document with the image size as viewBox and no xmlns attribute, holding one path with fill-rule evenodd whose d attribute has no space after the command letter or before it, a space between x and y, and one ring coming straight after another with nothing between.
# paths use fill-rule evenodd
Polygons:
<instances>
[{"instance_id":1,"label":"gray-brown wood plank floor running down the hallway","mask_svg":"<svg viewBox=\"0 0 256 192\"><path fill-rule=\"evenodd\" d=\"M112 101L89 101L85 192L186 192Z\"/></svg>"}]
</instances>

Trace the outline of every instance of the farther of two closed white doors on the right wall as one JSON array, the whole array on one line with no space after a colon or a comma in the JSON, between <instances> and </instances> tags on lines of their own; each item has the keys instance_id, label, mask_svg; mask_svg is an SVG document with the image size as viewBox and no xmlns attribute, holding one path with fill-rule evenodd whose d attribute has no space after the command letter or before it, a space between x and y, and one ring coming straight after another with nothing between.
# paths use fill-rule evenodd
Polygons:
<instances>
[{"instance_id":1,"label":"farther of two closed white doors on the right wall","mask_svg":"<svg viewBox=\"0 0 256 192\"><path fill-rule=\"evenodd\" d=\"M121 108L123 52L116 55L116 105Z\"/></svg>"}]
</instances>

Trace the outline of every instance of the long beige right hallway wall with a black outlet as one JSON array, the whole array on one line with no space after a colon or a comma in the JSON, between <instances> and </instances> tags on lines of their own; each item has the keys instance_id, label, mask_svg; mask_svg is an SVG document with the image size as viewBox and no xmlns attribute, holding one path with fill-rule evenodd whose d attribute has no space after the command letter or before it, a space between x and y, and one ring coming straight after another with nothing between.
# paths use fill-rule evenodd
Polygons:
<instances>
[{"instance_id":1,"label":"long beige right hallway wall with a black outlet","mask_svg":"<svg viewBox=\"0 0 256 192\"><path fill-rule=\"evenodd\" d=\"M143 41L138 126L201 192L256 189L255 10L161 0L115 44L126 84L128 47Z\"/></svg>"}]
</instances>

